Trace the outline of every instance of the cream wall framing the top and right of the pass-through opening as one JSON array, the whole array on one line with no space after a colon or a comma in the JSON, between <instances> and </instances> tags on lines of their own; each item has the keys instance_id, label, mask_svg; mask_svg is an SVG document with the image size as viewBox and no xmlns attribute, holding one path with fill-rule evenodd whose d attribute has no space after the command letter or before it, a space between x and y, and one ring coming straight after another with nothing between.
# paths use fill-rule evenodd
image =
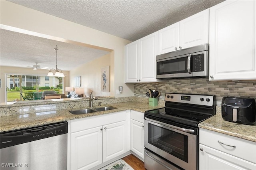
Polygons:
<instances>
[{"instance_id":1,"label":"cream wall framing the top and right of the pass-through opening","mask_svg":"<svg viewBox=\"0 0 256 170\"><path fill-rule=\"evenodd\" d=\"M111 51L110 65L114 69L110 73L112 75L110 95L115 95L115 91L120 85L123 86L124 90L122 95L115 95L116 97L134 95L133 84L124 83L124 45L130 41L5 0L0 1L0 12L0 23L3 25L81 42L89 47L105 48Z\"/></svg>"}]
</instances>

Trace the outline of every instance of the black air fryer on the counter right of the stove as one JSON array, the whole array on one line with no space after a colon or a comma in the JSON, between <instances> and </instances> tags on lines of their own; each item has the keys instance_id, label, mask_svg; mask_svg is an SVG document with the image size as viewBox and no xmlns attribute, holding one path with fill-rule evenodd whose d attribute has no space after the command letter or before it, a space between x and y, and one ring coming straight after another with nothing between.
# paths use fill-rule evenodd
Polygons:
<instances>
[{"instance_id":1,"label":"black air fryer on the counter right of the stove","mask_svg":"<svg viewBox=\"0 0 256 170\"><path fill-rule=\"evenodd\" d=\"M225 121L253 125L256 122L256 104L252 97L225 96L221 115Z\"/></svg>"}]
</instances>

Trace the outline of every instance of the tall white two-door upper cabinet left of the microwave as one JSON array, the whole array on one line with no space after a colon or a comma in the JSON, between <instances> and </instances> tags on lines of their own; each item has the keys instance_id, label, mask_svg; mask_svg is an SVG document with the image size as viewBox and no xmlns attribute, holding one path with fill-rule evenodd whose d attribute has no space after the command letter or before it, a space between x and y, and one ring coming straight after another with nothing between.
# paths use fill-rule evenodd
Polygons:
<instances>
[{"instance_id":1,"label":"tall white two-door upper cabinet left of the microwave","mask_svg":"<svg viewBox=\"0 0 256 170\"><path fill-rule=\"evenodd\" d=\"M157 32L126 45L126 83L157 82Z\"/></svg>"}]
</instances>

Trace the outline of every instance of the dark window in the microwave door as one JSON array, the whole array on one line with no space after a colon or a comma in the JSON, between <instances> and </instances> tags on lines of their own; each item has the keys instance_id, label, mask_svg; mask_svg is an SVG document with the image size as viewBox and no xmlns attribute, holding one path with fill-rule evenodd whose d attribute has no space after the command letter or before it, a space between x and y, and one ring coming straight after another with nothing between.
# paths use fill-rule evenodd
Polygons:
<instances>
[{"instance_id":1,"label":"dark window in the microwave door","mask_svg":"<svg viewBox=\"0 0 256 170\"><path fill-rule=\"evenodd\" d=\"M158 61L156 64L157 74L187 73L188 57Z\"/></svg>"}]
</instances>

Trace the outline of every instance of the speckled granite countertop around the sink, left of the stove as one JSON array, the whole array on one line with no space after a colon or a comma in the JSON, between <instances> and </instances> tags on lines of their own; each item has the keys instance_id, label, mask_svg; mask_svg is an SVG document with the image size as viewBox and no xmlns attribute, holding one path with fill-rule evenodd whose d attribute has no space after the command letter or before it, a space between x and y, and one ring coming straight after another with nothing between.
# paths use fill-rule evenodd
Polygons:
<instances>
[{"instance_id":1,"label":"speckled granite countertop around the sink, left of the stove","mask_svg":"<svg viewBox=\"0 0 256 170\"><path fill-rule=\"evenodd\" d=\"M152 107L152 106L149 106L148 103L140 103L136 101L114 103L114 104L102 105L97 107L104 107L104 106L112 106L112 107L116 107L117 109L82 114L82 115L73 115L69 112L72 110L79 110L78 108L76 108L76 109L63 109L63 110L56 110L56 111L44 111L44 112L29 113L29 114L22 114L22 115L3 116L3 117L0 117L0 132L16 130L20 128L41 126L41 125L46 125L50 123L80 119L84 117L104 115L104 114L114 113L118 111L126 111L129 109L144 113L147 110L164 107L163 105ZM93 107L93 108L96 108L96 107ZM85 109L85 108L83 107L80 109Z\"/></svg>"}]
</instances>

